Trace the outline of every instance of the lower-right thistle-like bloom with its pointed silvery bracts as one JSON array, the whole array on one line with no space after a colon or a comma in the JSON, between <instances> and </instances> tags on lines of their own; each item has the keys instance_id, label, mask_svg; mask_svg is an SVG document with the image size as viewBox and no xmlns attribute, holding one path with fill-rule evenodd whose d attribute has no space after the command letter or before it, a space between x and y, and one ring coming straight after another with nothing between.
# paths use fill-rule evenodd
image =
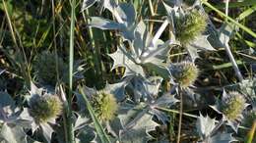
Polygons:
<instances>
[{"instance_id":1,"label":"lower-right thistle-like bloom with its pointed silvery bracts","mask_svg":"<svg viewBox=\"0 0 256 143\"><path fill-rule=\"evenodd\" d=\"M224 91L222 101L217 101L215 106L211 106L215 111L222 114L223 119L227 121L235 131L243 119L243 111L248 106L244 96L236 91L228 94Z\"/></svg>"}]
</instances>

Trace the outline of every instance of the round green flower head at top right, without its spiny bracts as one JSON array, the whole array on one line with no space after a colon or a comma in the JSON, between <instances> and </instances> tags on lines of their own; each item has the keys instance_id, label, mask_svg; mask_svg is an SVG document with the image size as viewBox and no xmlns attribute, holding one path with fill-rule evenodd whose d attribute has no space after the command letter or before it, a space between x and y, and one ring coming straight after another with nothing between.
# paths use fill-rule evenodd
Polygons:
<instances>
[{"instance_id":1,"label":"round green flower head at top right, without its spiny bracts","mask_svg":"<svg viewBox=\"0 0 256 143\"><path fill-rule=\"evenodd\" d=\"M207 26L207 17L198 10L187 12L174 21L175 35L181 44L188 44L196 39Z\"/></svg>"}]
</instances>

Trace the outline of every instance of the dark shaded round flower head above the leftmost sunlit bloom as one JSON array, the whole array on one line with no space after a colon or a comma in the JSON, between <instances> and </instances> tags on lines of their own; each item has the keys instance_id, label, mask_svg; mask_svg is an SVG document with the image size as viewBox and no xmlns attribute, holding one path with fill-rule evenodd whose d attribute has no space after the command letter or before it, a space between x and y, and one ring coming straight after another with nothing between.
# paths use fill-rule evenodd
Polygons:
<instances>
[{"instance_id":1,"label":"dark shaded round flower head above the leftmost sunlit bloom","mask_svg":"<svg viewBox=\"0 0 256 143\"><path fill-rule=\"evenodd\" d=\"M57 71L62 75L67 70L67 65L64 63L63 59L54 53L48 51L42 52L34 62L34 71L40 82L43 84L55 85L57 81Z\"/></svg>"}]
</instances>

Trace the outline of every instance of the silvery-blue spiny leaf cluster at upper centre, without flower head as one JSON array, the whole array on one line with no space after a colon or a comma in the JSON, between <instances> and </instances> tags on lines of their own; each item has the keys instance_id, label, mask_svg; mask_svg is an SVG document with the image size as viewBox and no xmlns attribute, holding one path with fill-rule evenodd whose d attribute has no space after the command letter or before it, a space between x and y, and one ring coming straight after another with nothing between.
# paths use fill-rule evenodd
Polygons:
<instances>
[{"instance_id":1,"label":"silvery-blue spiny leaf cluster at upper centre, without flower head","mask_svg":"<svg viewBox=\"0 0 256 143\"><path fill-rule=\"evenodd\" d=\"M144 67L166 70L162 66L162 62L166 60L172 41L163 42L158 36L152 37L143 21L137 24L133 5L121 3L118 6L120 12L117 12L124 23L107 22L93 17L90 24L90 26L101 29L118 29L124 40L128 40L128 47L121 44L117 47L116 52L109 55L114 61L112 69L125 67L124 76L131 74L145 76Z\"/></svg>"}]
</instances>

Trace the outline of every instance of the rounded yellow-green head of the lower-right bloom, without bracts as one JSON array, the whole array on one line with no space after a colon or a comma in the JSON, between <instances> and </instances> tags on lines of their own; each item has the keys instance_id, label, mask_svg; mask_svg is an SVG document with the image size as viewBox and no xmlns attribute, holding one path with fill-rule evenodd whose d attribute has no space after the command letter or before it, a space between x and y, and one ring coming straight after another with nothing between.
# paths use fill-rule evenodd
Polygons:
<instances>
[{"instance_id":1,"label":"rounded yellow-green head of the lower-right bloom, without bracts","mask_svg":"<svg viewBox=\"0 0 256 143\"><path fill-rule=\"evenodd\" d=\"M246 101L244 97L238 92L232 91L228 94L230 97L224 101L221 110L227 119L234 120L242 114Z\"/></svg>"}]
</instances>

